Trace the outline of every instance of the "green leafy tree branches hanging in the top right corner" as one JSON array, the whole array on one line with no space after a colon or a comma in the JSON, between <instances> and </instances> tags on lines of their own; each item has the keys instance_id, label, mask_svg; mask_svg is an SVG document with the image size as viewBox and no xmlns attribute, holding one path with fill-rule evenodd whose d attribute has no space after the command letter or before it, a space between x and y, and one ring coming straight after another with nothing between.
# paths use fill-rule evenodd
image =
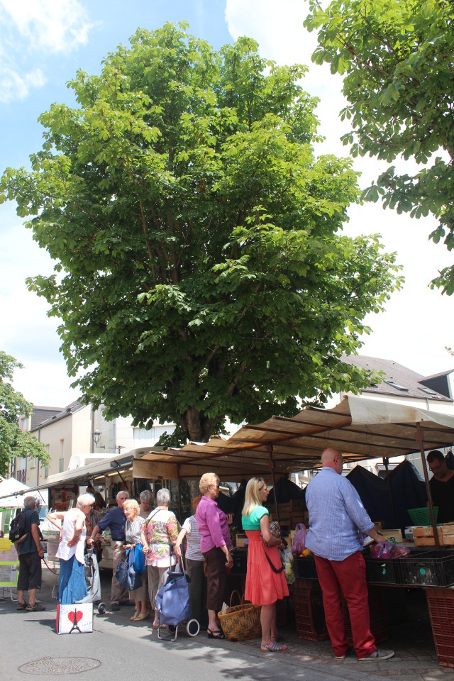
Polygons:
<instances>
[{"instance_id":1,"label":"green leafy tree branches hanging in the top right corner","mask_svg":"<svg viewBox=\"0 0 454 681\"><path fill-rule=\"evenodd\" d=\"M430 234L454 248L454 4L452 0L309 0L304 22L318 30L312 59L343 75L353 156L421 164L414 175L390 166L364 192L398 213L438 218ZM442 150L444 153L442 153ZM441 153L441 155L436 155ZM432 286L454 292L454 266Z\"/></svg>"}]
</instances>

